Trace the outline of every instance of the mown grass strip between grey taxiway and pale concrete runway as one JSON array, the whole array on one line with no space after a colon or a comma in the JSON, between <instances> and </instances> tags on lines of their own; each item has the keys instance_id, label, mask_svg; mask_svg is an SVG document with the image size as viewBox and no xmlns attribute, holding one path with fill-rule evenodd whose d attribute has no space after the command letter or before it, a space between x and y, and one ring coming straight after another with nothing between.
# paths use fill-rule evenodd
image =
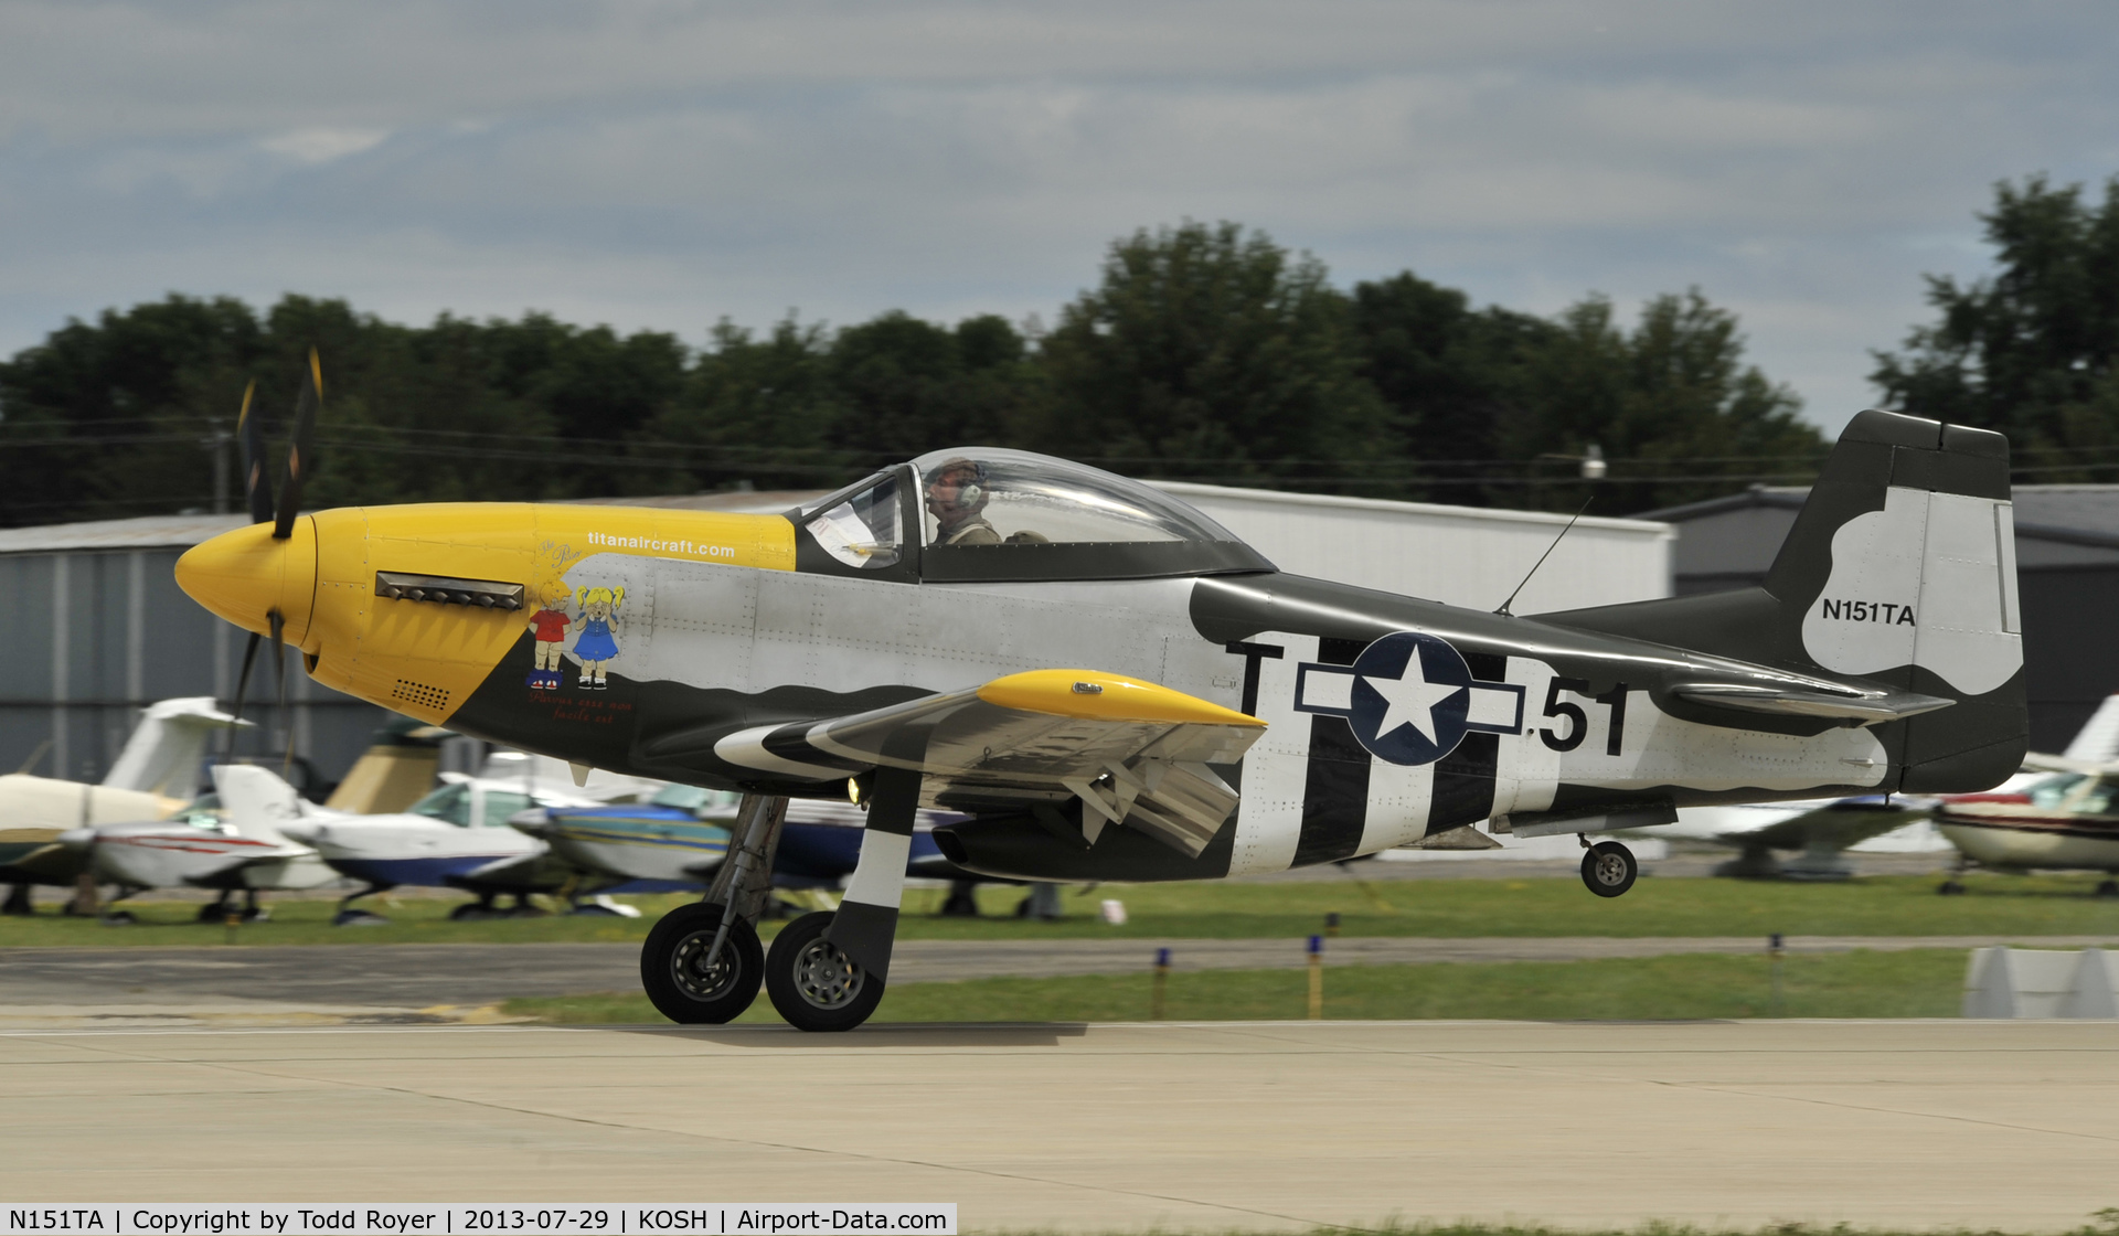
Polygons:
<instances>
[{"instance_id":1,"label":"mown grass strip between grey taxiway and pale concrete runway","mask_svg":"<svg viewBox=\"0 0 2119 1236\"><path fill-rule=\"evenodd\" d=\"M1324 1018L1954 1018L1964 988L1964 950L1803 954L1782 965L1780 1003L1765 956L1329 967ZM1144 1022L1151 982L1129 973L903 984L888 988L875 1022ZM1299 969L1174 973L1168 982L1172 1022L1310 1016L1310 975ZM553 1024L665 1022L642 994L521 999L502 1011ZM740 1020L780 1018L761 999Z\"/></svg>"}]
</instances>

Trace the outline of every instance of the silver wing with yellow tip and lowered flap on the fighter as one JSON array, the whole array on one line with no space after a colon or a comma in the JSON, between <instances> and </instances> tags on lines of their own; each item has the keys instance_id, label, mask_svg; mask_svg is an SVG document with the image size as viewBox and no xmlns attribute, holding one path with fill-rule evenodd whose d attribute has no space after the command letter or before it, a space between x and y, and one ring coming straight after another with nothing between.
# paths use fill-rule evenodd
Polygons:
<instances>
[{"instance_id":1,"label":"silver wing with yellow tip and lowered flap on the fighter","mask_svg":"<svg viewBox=\"0 0 2119 1236\"><path fill-rule=\"evenodd\" d=\"M1085 804L1083 833L1146 829L1197 854L1235 810L1212 772L1235 763L1265 723L1157 683L1100 670L1030 670L888 708L729 734L729 763L837 780L875 767L926 774L945 808L1051 810Z\"/></svg>"}]
</instances>

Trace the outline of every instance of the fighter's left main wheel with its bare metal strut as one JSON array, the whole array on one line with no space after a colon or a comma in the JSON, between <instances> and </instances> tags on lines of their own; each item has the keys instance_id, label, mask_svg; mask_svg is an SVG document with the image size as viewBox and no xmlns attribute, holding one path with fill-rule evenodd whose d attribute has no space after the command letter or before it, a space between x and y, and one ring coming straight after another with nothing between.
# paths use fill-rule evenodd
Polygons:
<instances>
[{"instance_id":1,"label":"fighter's left main wheel with its bare metal strut","mask_svg":"<svg viewBox=\"0 0 2119 1236\"><path fill-rule=\"evenodd\" d=\"M773 850L786 814L784 797L744 797L737 810L742 840L706 899L663 914L640 946L640 986L672 1022L718 1026L759 999L765 948L756 920L773 886Z\"/></svg>"}]
</instances>

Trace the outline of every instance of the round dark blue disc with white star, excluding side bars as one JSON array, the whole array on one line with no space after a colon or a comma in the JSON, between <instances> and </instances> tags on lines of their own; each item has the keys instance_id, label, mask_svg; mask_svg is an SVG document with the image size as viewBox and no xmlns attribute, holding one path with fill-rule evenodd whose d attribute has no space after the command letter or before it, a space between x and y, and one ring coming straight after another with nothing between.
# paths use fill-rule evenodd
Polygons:
<instances>
[{"instance_id":1,"label":"round dark blue disc with white star, excluding side bars","mask_svg":"<svg viewBox=\"0 0 2119 1236\"><path fill-rule=\"evenodd\" d=\"M1471 666L1447 640L1396 632L1354 659L1354 738L1390 763L1435 763L1464 740Z\"/></svg>"}]
</instances>

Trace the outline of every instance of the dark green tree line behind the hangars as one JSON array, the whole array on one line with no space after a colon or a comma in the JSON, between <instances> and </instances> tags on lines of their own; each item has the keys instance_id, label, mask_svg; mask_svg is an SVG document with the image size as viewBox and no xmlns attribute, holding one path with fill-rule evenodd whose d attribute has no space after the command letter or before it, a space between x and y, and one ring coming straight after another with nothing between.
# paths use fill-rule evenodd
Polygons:
<instances>
[{"instance_id":1,"label":"dark green tree line behind the hangars","mask_svg":"<svg viewBox=\"0 0 2119 1236\"><path fill-rule=\"evenodd\" d=\"M2119 182L2000 184L2000 273L1933 280L1939 322L1873 382L1909 411L2005 428L2068 473L2119 452ZM172 295L72 320L0 363L0 519L242 509L233 416L284 420L309 348L324 418L307 505L829 488L954 443L1229 485L1634 513L1801 483L1827 443L1744 363L1702 293L1621 320L1477 307L1405 271L1333 286L1233 223L1117 240L1051 322L903 312L831 329L723 320L704 346L547 314L407 326L345 301L263 314ZM2087 452L2087 454L2085 454ZM1604 460L1585 479L1583 458ZM2119 454L2108 456L2119 460ZM2087 460L2087 462L2085 462Z\"/></svg>"}]
</instances>

